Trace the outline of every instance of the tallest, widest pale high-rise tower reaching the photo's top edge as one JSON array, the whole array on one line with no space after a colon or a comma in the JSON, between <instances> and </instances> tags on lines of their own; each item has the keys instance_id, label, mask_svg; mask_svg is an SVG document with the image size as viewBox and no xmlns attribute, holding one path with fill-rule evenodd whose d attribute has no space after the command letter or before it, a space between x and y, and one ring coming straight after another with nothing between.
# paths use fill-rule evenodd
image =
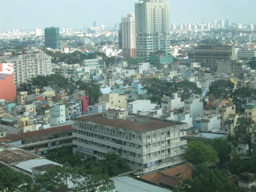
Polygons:
<instances>
[{"instance_id":1,"label":"tallest, widest pale high-rise tower reaching the photo's top edge","mask_svg":"<svg viewBox=\"0 0 256 192\"><path fill-rule=\"evenodd\" d=\"M170 11L164 0L135 3L136 56L170 52Z\"/></svg>"}]
</instances>

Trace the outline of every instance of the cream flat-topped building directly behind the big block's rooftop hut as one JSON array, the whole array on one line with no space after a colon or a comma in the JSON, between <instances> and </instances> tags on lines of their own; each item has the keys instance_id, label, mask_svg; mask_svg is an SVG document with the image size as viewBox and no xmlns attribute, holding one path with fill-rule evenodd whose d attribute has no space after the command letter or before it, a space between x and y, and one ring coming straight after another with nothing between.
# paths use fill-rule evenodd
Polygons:
<instances>
[{"instance_id":1,"label":"cream flat-topped building directly behind the big block's rooftop hut","mask_svg":"<svg viewBox=\"0 0 256 192\"><path fill-rule=\"evenodd\" d=\"M108 107L114 107L114 108L120 108L120 109L127 110L127 96L126 95L118 95L118 93L102 94L102 97L99 97L99 105L103 105L102 102L109 103ZM103 107L103 109L108 109L108 108Z\"/></svg>"}]
</instances>

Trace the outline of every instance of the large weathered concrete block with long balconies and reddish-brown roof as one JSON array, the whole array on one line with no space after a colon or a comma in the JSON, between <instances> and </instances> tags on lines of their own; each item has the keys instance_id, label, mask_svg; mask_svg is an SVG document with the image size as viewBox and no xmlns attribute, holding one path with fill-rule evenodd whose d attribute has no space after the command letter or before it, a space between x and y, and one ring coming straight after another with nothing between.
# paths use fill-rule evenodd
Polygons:
<instances>
[{"instance_id":1,"label":"large weathered concrete block with long balconies and reddish-brown roof","mask_svg":"<svg viewBox=\"0 0 256 192\"><path fill-rule=\"evenodd\" d=\"M125 111L103 111L99 114L73 118L78 139L74 153L82 157L94 155L102 159L109 151L121 152L131 169L150 172L184 161L182 145L187 140L187 125L177 121L125 115Z\"/></svg>"}]
</instances>

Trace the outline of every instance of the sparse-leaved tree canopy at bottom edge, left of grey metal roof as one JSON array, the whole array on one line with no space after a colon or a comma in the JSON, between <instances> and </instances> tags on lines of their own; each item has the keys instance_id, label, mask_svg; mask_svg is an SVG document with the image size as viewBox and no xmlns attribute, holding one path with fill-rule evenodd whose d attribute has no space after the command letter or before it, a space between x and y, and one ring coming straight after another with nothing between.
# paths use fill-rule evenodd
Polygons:
<instances>
[{"instance_id":1,"label":"sparse-leaved tree canopy at bottom edge, left of grey metal roof","mask_svg":"<svg viewBox=\"0 0 256 192\"><path fill-rule=\"evenodd\" d=\"M35 182L48 191L110 191L114 188L109 176L102 173L101 167L90 166L89 169L71 167L68 163L54 166L44 174L37 175Z\"/></svg>"}]
</instances>

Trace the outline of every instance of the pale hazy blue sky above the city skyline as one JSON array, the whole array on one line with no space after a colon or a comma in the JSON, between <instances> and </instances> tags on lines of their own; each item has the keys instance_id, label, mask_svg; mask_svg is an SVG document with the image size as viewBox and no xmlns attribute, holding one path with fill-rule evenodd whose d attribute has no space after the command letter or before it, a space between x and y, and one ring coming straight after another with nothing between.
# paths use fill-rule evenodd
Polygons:
<instances>
[{"instance_id":1,"label":"pale hazy blue sky above the city skyline","mask_svg":"<svg viewBox=\"0 0 256 192\"><path fill-rule=\"evenodd\" d=\"M182 24L229 19L230 23L256 23L256 0L165 0L170 23ZM113 27L134 13L139 0L0 0L0 31L60 27L83 29Z\"/></svg>"}]
</instances>

